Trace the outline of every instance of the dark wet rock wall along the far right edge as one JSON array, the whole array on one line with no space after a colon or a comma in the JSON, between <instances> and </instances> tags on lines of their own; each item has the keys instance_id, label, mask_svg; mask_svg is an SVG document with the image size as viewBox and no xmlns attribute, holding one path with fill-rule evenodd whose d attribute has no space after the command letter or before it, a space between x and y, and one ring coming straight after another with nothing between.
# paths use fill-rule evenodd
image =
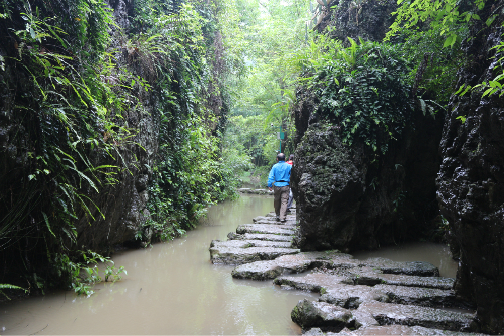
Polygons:
<instances>
[{"instance_id":1,"label":"dark wet rock wall along the far right edge","mask_svg":"<svg viewBox=\"0 0 504 336\"><path fill-rule=\"evenodd\" d=\"M480 14L484 23L488 2ZM494 26L476 24L475 38L464 41L467 63L458 72L457 87L477 85L501 73L493 46L502 41L502 11ZM499 55L497 58L501 57ZM453 95L446 116L440 153L443 157L437 199L460 250L455 290L474 300L483 331L504 333L504 101L498 93L481 98L475 90ZM465 116L464 123L457 119Z\"/></svg>"}]
</instances>

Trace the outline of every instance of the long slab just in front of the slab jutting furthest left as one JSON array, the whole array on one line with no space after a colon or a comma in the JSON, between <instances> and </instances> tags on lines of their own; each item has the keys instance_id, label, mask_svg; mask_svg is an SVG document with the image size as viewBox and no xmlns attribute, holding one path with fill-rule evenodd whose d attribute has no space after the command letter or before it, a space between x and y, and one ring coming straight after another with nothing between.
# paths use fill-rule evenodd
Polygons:
<instances>
[{"instance_id":1,"label":"long slab just in front of the slab jutting furthest left","mask_svg":"<svg viewBox=\"0 0 504 336\"><path fill-rule=\"evenodd\" d=\"M239 265L233 270L232 276L238 279L275 279L282 274L301 273L309 268L328 266L338 257L341 260L352 260L351 255L344 253L301 252L282 255L274 261L256 261Z\"/></svg>"}]
</instances>

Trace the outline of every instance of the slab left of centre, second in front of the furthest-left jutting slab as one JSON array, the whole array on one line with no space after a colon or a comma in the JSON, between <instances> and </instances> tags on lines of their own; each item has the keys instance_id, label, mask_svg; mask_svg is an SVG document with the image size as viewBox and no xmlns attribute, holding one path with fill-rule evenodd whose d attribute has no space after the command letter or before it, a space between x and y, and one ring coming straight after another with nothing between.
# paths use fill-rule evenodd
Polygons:
<instances>
[{"instance_id":1,"label":"slab left of centre, second in front of the furthest-left jutting slab","mask_svg":"<svg viewBox=\"0 0 504 336\"><path fill-rule=\"evenodd\" d=\"M324 273L311 273L304 277L279 277L273 280L273 283L317 293L339 284L353 285L352 279Z\"/></svg>"}]
</instances>

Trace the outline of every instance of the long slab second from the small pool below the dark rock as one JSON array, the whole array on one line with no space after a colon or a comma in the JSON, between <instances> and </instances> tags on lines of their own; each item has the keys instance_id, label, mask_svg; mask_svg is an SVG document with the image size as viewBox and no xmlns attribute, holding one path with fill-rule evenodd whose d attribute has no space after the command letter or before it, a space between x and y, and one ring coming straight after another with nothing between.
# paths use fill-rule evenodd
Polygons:
<instances>
[{"instance_id":1,"label":"long slab second from the small pool below the dark rock","mask_svg":"<svg viewBox=\"0 0 504 336\"><path fill-rule=\"evenodd\" d=\"M398 274L381 274L382 271L371 267L356 268L349 272L356 278L359 285L374 286L378 284L407 286L407 287L425 287L438 289L452 289L455 278L441 277L418 277L404 276Z\"/></svg>"}]
</instances>

